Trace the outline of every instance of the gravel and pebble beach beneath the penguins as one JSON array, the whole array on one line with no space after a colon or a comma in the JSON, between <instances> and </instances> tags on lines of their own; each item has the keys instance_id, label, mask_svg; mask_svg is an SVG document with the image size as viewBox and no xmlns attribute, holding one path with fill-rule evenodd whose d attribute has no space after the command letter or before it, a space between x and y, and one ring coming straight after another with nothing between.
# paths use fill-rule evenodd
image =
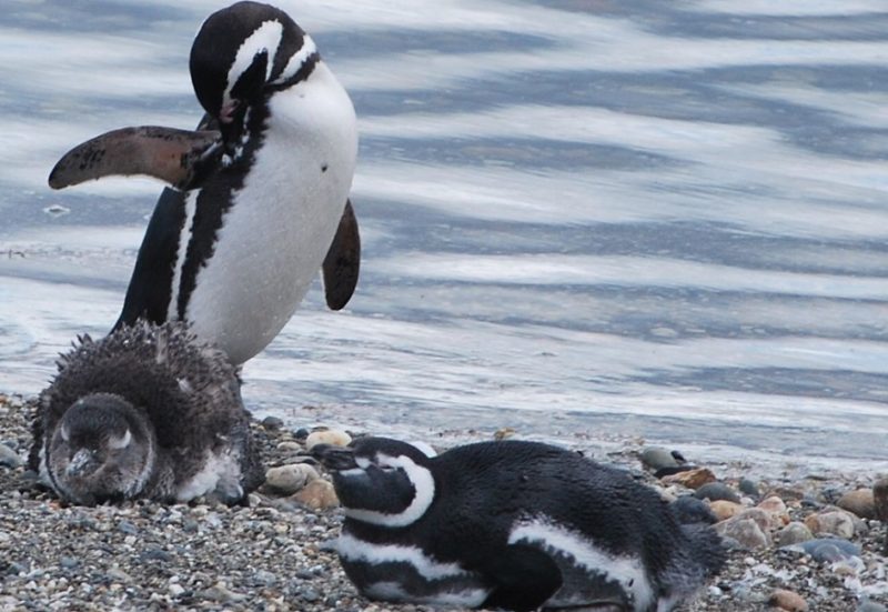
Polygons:
<instances>
[{"instance_id":1,"label":"gravel and pebble beach beneath the penguins","mask_svg":"<svg viewBox=\"0 0 888 612\"><path fill-rule=\"evenodd\" d=\"M341 516L324 498L323 474L317 486L296 493L266 485L235 508L143 501L65 505L23 465L31 414L26 399L0 395L0 610L434 610L357 595L330 550ZM275 419L263 423L253 428L268 466L304 461L305 431L291 431ZM443 449L492 435L467 430L428 442ZM885 526L864 516L871 515L867 493L878 474L805 474L775 466L767 478L750 481L744 480L741 461L707 464L705 457L688 457L702 469L656 479L642 461L644 441L625 441L604 454L586 437L577 435L573 445L622 464L667 496L692 495L695 489L703 496L703 481L716 479L708 491L726 498L712 508L728 536L728 565L680 610L886 610ZM861 492L846 494L852 491ZM854 508L861 515L836 503L858 503ZM799 543L781 548L788 542Z\"/></svg>"}]
</instances>

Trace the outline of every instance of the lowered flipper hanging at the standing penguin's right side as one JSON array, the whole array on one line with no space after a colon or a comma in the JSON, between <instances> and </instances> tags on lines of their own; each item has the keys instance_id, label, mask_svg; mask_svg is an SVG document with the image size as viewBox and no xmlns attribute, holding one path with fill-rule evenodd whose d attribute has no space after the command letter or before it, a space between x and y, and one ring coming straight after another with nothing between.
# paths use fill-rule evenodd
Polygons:
<instances>
[{"instance_id":1,"label":"lowered flipper hanging at the standing penguin's right side","mask_svg":"<svg viewBox=\"0 0 888 612\"><path fill-rule=\"evenodd\" d=\"M352 202L346 200L336 235L322 265L324 294L331 310L341 310L349 303L357 285L360 270L361 234Z\"/></svg>"}]
</instances>

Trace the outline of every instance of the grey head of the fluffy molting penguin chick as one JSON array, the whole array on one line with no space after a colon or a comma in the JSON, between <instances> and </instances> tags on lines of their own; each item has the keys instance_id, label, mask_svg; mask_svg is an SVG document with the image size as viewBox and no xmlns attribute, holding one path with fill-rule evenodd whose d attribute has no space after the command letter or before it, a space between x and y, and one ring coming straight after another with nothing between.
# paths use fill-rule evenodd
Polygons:
<instances>
[{"instance_id":1,"label":"grey head of the fluffy molting penguin chick","mask_svg":"<svg viewBox=\"0 0 888 612\"><path fill-rule=\"evenodd\" d=\"M84 505L138 494L153 461L151 424L111 393L71 404L47 442L47 469L56 489Z\"/></svg>"}]
</instances>

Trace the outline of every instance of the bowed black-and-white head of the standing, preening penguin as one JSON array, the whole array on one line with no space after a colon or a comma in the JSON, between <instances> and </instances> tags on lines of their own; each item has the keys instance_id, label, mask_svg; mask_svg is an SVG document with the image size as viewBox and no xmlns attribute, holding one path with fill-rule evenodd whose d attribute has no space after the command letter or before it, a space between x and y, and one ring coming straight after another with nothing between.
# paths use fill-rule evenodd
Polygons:
<instances>
[{"instance_id":1,"label":"bowed black-and-white head of the standing, preening penguin","mask_svg":"<svg viewBox=\"0 0 888 612\"><path fill-rule=\"evenodd\" d=\"M191 82L225 137L251 106L286 88L312 56L314 42L285 12L236 2L201 26L191 47Z\"/></svg>"}]
</instances>

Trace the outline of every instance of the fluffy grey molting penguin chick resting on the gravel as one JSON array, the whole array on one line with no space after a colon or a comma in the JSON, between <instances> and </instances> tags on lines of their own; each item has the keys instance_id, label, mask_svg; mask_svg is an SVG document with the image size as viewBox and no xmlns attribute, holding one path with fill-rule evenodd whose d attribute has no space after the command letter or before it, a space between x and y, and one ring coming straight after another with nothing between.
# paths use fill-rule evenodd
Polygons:
<instances>
[{"instance_id":1,"label":"fluffy grey molting penguin chick resting on the gravel","mask_svg":"<svg viewBox=\"0 0 888 612\"><path fill-rule=\"evenodd\" d=\"M235 367L185 323L83 335L58 369L39 397L29 466L63 500L234 504L264 480Z\"/></svg>"}]
</instances>

